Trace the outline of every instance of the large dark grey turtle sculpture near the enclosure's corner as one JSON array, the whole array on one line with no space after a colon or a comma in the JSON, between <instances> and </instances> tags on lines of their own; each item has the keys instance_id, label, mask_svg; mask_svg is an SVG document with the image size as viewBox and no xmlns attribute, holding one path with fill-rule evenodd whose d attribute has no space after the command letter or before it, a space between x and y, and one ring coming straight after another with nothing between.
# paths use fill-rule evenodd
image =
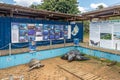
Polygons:
<instances>
[{"instance_id":1,"label":"large dark grey turtle sculpture near the enclosure's corner","mask_svg":"<svg viewBox=\"0 0 120 80\"><path fill-rule=\"evenodd\" d=\"M61 57L61 59L68 60L69 62L89 60L89 58L84 57L84 54L81 54L78 50L71 50Z\"/></svg>"}]
</instances>

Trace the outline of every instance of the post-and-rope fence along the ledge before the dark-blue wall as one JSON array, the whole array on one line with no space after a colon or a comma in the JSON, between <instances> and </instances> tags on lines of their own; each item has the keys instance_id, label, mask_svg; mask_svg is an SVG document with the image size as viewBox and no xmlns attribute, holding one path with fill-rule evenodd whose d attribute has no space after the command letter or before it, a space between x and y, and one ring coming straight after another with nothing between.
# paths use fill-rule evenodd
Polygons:
<instances>
[{"instance_id":1,"label":"post-and-rope fence along the ledge before the dark-blue wall","mask_svg":"<svg viewBox=\"0 0 120 80\"><path fill-rule=\"evenodd\" d=\"M39 51L39 50L45 50L45 49L73 46L73 43L71 42L73 42L72 39L71 40L64 39L64 40L57 40L57 41L49 40L49 41L44 41L42 43L36 42L36 45L37 45L36 50ZM18 44L9 43L0 48L0 56L29 52L28 47L29 47L29 43L26 43L24 45L20 45L19 43Z\"/></svg>"}]
</instances>

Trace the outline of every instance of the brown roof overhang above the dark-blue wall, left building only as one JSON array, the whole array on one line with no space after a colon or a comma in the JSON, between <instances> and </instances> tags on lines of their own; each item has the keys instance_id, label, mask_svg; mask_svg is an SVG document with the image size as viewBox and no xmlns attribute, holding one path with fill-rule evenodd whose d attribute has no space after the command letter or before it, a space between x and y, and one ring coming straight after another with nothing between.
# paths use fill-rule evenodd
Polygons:
<instances>
[{"instance_id":1,"label":"brown roof overhang above the dark-blue wall, left building only","mask_svg":"<svg viewBox=\"0 0 120 80\"><path fill-rule=\"evenodd\" d=\"M65 20L65 21L80 21L83 18L79 15L71 15L59 12L52 12L46 10L37 10L18 5L2 4L0 3L0 15L10 17L28 17L49 20Z\"/></svg>"}]
</instances>

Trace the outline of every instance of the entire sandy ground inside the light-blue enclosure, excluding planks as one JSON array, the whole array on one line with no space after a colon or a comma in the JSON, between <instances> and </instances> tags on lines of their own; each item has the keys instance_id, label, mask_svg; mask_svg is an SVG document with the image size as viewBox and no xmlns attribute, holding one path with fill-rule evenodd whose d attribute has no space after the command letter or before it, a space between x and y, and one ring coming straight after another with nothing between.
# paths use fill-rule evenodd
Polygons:
<instances>
[{"instance_id":1,"label":"entire sandy ground inside the light-blue enclosure, excluding planks","mask_svg":"<svg viewBox=\"0 0 120 80\"><path fill-rule=\"evenodd\" d=\"M75 75L58 67L61 65L68 66L68 68L71 69L75 68L76 72L82 70L87 73L92 73L94 75L102 77L103 80L120 80L120 67L117 66L109 67L106 66L105 63L101 63L100 61L93 59L88 61L67 62L66 60L61 60L60 57L57 57L42 60L41 63L44 64L45 66L42 68L33 69L29 72L28 72L29 67L27 64L14 66L7 69L1 69L0 80L2 80L2 78L5 79L10 75L13 75L14 77L23 77L24 80L81 80Z\"/></svg>"}]
</instances>

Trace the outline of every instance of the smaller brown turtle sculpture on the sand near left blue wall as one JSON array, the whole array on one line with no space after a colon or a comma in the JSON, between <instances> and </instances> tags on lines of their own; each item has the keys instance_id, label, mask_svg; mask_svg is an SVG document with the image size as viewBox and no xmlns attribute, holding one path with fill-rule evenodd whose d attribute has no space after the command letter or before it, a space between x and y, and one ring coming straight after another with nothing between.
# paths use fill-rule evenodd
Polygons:
<instances>
[{"instance_id":1,"label":"smaller brown turtle sculpture on the sand near left blue wall","mask_svg":"<svg viewBox=\"0 0 120 80\"><path fill-rule=\"evenodd\" d=\"M39 60L37 59L31 59L30 62L28 63L28 66L29 66L29 70L32 70L34 68L39 68L39 67L43 67L44 65L40 63Z\"/></svg>"}]
</instances>

